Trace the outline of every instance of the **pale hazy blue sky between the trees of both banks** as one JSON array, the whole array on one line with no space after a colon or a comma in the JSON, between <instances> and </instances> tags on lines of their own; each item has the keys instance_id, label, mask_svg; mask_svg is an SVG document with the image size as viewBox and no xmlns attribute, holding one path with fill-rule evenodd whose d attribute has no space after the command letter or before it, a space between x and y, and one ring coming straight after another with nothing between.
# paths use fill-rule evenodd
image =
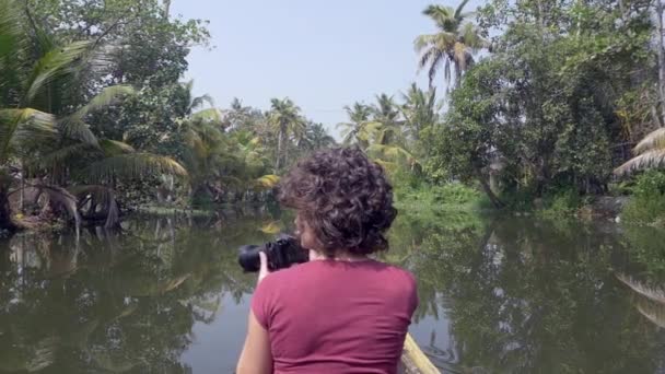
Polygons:
<instances>
[{"instance_id":1,"label":"pale hazy blue sky between the trees of both banks","mask_svg":"<svg viewBox=\"0 0 665 374\"><path fill-rule=\"evenodd\" d=\"M261 109L271 97L289 96L337 135L345 105L371 103L381 92L397 97L413 81L427 86L413 39L435 31L421 14L432 2L174 0L172 14L210 21L214 48L189 56L186 78L196 94L212 95L222 108L240 97Z\"/></svg>"}]
</instances>

